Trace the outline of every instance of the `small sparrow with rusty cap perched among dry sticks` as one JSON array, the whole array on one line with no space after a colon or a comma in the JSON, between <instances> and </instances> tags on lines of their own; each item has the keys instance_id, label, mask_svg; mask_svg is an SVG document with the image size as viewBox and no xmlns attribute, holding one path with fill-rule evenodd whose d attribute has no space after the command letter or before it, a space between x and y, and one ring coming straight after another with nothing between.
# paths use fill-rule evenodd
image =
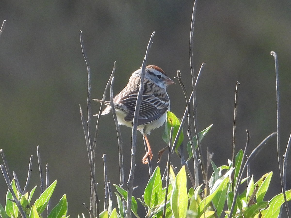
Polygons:
<instances>
[{"instance_id":1,"label":"small sparrow with rusty cap perched among dry sticks","mask_svg":"<svg viewBox=\"0 0 291 218\"><path fill-rule=\"evenodd\" d=\"M113 99L117 121L120 125L132 128L140 80L141 68L132 73L125 88ZM143 97L137 122L137 129L143 134L148 147L148 152L142 159L144 164L148 163L148 156L150 160L153 156L147 135L152 129L159 128L164 124L167 111L170 110L170 99L166 92L166 87L170 84L174 84L174 81L168 78L161 68L155 65L148 65L145 68ZM93 100L101 102L99 99ZM111 111L110 101L105 101L104 104L107 105L107 108L103 110L101 115Z\"/></svg>"}]
</instances>

